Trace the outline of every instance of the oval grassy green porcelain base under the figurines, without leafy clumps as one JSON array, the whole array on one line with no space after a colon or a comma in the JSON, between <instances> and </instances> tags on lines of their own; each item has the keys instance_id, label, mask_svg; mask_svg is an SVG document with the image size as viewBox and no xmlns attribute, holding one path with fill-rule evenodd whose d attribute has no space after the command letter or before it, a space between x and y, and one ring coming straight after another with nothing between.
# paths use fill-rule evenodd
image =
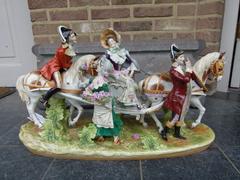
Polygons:
<instances>
[{"instance_id":1,"label":"oval grassy green porcelain base under the figurines, without leafy clumps","mask_svg":"<svg viewBox=\"0 0 240 180\"><path fill-rule=\"evenodd\" d=\"M82 122L82 120L80 121ZM86 122L90 121L86 120ZM83 124L86 125L86 122ZM153 123L150 123L148 128L144 128L134 119L125 119L120 145L115 145L112 138L107 138L104 142L97 142L93 146L82 147L79 144L77 133L82 126L78 125L69 130L69 134L73 137L72 141L53 143L43 140L39 136L41 130L32 122L28 122L22 125L19 138L34 154L82 160L140 160L186 156L207 149L215 139L214 132L208 126L200 124L194 129L182 128L182 134L187 138L186 140L176 139L171 135L173 132L170 132L166 142L161 139ZM138 134L140 139L134 140L133 134ZM148 136L156 137L155 141L158 145L146 148L143 139Z\"/></svg>"}]
</instances>

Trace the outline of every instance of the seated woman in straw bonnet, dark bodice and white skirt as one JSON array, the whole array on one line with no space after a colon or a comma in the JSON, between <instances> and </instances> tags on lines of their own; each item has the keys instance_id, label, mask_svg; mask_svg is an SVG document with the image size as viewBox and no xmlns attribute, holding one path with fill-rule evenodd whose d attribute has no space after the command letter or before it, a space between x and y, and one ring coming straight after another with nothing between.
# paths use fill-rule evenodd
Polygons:
<instances>
[{"instance_id":1,"label":"seated woman in straw bonnet, dark bodice and white skirt","mask_svg":"<svg viewBox=\"0 0 240 180\"><path fill-rule=\"evenodd\" d=\"M141 107L136 96L138 86L133 80L135 71L139 71L138 64L125 48L120 47L120 34L112 29L106 29L102 32L100 41L107 49L102 59L112 63L116 81L121 80L126 83L126 89L117 100L126 106Z\"/></svg>"}]
</instances>

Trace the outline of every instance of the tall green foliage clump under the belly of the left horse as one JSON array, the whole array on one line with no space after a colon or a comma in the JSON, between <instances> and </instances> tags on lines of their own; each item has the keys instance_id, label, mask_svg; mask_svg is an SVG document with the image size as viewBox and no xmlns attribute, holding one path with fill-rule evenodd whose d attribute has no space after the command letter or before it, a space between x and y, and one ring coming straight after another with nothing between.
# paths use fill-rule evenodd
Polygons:
<instances>
[{"instance_id":1,"label":"tall green foliage clump under the belly of the left horse","mask_svg":"<svg viewBox=\"0 0 240 180\"><path fill-rule=\"evenodd\" d=\"M69 111L64 99L51 98L50 107L46 109L46 121L40 136L49 142L67 139Z\"/></svg>"}]
</instances>

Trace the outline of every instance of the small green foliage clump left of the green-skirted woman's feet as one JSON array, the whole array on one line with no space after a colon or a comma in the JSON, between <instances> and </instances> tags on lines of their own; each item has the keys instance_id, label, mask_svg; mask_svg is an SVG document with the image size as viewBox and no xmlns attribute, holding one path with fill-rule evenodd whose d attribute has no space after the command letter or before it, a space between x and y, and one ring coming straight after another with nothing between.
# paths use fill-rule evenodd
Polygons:
<instances>
[{"instance_id":1,"label":"small green foliage clump left of the green-skirted woman's feet","mask_svg":"<svg viewBox=\"0 0 240 180\"><path fill-rule=\"evenodd\" d=\"M79 130L79 145L82 147L95 145L93 139L97 133L97 128L93 123L90 123L88 126L84 126Z\"/></svg>"}]
</instances>

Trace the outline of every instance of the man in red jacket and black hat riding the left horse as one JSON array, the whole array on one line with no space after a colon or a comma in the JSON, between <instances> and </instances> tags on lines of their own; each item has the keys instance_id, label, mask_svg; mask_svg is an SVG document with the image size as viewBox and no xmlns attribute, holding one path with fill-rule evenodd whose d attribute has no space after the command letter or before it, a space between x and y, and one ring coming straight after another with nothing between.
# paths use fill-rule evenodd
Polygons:
<instances>
[{"instance_id":1,"label":"man in red jacket and black hat riding the left horse","mask_svg":"<svg viewBox=\"0 0 240 180\"><path fill-rule=\"evenodd\" d=\"M56 87L51 88L40 99L40 102L47 106L49 98L61 90L62 77L61 72L67 70L72 65L72 58L76 53L72 47L76 43L76 33L65 26L58 27L58 34L61 38L62 44L57 49L55 56L48 61L39 71L40 74L47 80L55 80Z\"/></svg>"}]
</instances>

